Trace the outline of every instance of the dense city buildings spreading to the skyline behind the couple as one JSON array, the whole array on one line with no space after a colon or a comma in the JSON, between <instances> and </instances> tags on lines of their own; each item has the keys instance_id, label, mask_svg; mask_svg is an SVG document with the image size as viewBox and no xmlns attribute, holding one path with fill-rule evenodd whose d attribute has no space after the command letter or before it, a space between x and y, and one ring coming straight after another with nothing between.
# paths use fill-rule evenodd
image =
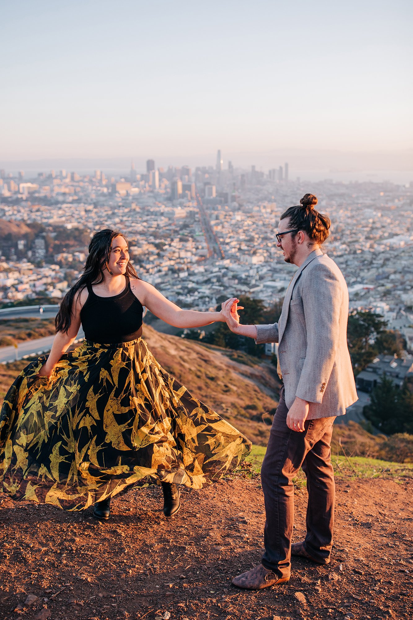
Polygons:
<instances>
[{"instance_id":1,"label":"dense city buildings spreading to the skyline behind the couple","mask_svg":"<svg viewBox=\"0 0 413 620\"><path fill-rule=\"evenodd\" d=\"M332 219L325 250L345 275L350 308L383 314L413 348L413 188L389 182L305 182L288 164L268 172L216 166L157 168L123 177L60 170L0 179L0 304L60 299L78 277L91 232L130 239L141 278L186 308L232 295L282 299L296 267L283 261L281 213L306 192ZM23 180L24 179L24 180Z\"/></svg>"}]
</instances>

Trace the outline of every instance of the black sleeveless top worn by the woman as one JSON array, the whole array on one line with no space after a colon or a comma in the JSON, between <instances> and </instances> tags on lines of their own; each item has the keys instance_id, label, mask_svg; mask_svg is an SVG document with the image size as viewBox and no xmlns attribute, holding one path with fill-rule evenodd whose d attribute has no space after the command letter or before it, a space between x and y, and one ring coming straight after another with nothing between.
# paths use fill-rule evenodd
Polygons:
<instances>
[{"instance_id":1,"label":"black sleeveless top worn by the woman","mask_svg":"<svg viewBox=\"0 0 413 620\"><path fill-rule=\"evenodd\" d=\"M87 285L89 296L80 314L86 340L112 344L141 337L143 307L131 291L129 278L125 278L125 289L112 297L100 297Z\"/></svg>"}]
</instances>

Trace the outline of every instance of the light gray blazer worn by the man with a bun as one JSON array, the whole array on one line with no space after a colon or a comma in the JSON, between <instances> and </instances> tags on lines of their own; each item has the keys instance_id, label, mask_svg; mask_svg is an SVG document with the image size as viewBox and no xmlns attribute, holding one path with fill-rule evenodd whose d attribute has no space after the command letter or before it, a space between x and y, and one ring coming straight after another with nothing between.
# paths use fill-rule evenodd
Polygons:
<instances>
[{"instance_id":1,"label":"light gray blazer worn by the man with a bun","mask_svg":"<svg viewBox=\"0 0 413 620\"><path fill-rule=\"evenodd\" d=\"M280 321L256 325L257 344L278 342L288 408L309 402L308 420L345 414L357 401L349 349L349 292L334 260L309 254L288 286Z\"/></svg>"}]
</instances>

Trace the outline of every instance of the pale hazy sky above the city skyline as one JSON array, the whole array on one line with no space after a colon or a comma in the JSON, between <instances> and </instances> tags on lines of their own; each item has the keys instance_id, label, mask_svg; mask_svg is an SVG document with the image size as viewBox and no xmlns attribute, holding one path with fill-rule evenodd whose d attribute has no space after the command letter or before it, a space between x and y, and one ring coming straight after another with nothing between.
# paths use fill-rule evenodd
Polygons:
<instances>
[{"instance_id":1,"label":"pale hazy sky above the city skyline","mask_svg":"<svg viewBox=\"0 0 413 620\"><path fill-rule=\"evenodd\" d=\"M0 159L412 141L411 1L0 2Z\"/></svg>"}]
</instances>

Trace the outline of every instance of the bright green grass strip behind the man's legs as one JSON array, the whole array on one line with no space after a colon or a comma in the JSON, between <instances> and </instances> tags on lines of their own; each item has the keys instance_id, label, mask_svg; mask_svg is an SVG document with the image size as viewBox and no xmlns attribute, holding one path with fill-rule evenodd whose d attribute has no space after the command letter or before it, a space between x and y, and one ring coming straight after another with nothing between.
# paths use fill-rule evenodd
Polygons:
<instances>
[{"instance_id":1,"label":"bright green grass strip behind the man's legs","mask_svg":"<svg viewBox=\"0 0 413 620\"><path fill-rule=\"evenodd\" d=\"M241 466L247 475L255 477L260 474L266 449L264 446L252 446L251 454L244 461L245 467L244 464ZM413 478L413 463L392 463L363 456L344 455L332 456L331 462L336 478ZM296 487L302 487L305 481L305 474L300 469L293 483Z\"/></svg>"}]
</instances>

